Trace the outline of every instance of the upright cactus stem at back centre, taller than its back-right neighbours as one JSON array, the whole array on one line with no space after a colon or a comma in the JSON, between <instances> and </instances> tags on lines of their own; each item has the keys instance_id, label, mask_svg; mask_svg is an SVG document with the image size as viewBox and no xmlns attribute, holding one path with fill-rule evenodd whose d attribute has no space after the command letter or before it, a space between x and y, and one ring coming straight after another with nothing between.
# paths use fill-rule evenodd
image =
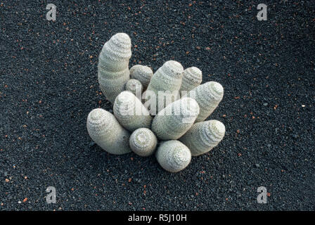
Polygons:
<instances>
[{"instance_id":1,"label":"upright cactus stem at back centre, taller than its back-right neighbours","mask_svg":"<svg viewBox=\"0 0 315 225\"><path fill-rule=\"evenodd\" d=\"M179 98L179 89L181 88L181 80L183 77L184 68L181 63L173 60L169 60L162 65L153 75L146 90L145 98L148 99L150 94L155 94L155 106L150 108L151 115L156 115L160 110L165 108L168 103L165 101L164 96L158 96L160 94L166 94L168 91L169 103L172 103ZM153 96L150 96L153 98ZM160 104L160 105L159 105Z\"/></svg>"}]
</instances>

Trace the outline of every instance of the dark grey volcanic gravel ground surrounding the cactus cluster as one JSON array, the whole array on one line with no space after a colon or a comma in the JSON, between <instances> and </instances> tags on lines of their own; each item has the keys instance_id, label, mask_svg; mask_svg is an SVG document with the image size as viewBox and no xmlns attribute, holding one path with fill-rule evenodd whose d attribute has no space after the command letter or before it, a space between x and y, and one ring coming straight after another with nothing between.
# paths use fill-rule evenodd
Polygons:
<instances>
[{"instance_id":1,"label":"dark grey volcanic gravel ground surrounding the cactus cluster","mask_svg":"<svg viewBox=\"0 0 315 225\"><path fill-rule=\"evenodd\" d=\"M312 1L1 1L0 210L315 210ZM116 156L86 131L98 54L126 32L129 66L203 71L226 136L178 174ZM57 203L46 203L54 186ZM268 203L257 203L265 186Z\"/></svg>"}]
</instances>

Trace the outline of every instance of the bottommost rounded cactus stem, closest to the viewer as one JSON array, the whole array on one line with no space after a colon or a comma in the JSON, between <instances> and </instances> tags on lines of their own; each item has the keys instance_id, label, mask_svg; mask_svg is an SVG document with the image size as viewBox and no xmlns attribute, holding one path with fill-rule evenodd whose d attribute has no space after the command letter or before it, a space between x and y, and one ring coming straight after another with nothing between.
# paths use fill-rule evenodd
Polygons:
<instances>
[{"instance_id":1,"label":"bottommost rounded cactus stem, closest to the viewer","mask_svg":"<svg viewBox=\"0 0 315 225\"><path fill-rule=\"evenodd\" d=\"M179 172L191 162L191 151L180 141L165 141L156 152L160 166L168 172Z\"/></svg>"}]
</instances>

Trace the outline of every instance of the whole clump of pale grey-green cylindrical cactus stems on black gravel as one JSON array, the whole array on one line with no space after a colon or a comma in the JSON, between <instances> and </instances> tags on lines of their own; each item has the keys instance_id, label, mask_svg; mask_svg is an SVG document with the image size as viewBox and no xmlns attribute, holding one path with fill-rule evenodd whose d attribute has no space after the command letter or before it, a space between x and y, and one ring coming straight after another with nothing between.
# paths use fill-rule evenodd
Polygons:
<instances>
[{"instance_id":1,"label":"whole clump of pale grey-green cylindrical cactus stems on black gravel","mask_svg":"<svg viewBox=\"0 0 315 225\"><path fill-rule=\"evenodd\" d=\"M156 72L145 65L129 70L131 39L117 33L98 58L98 83L113 113L92 110L86 121L91 139L108 153L155 153L160 166L179 172L192 156L209 152L224 138L224 124L207 120L223 98L218 82L201 84L195 67L174 60Z\"/></svg>"}]
</instances>

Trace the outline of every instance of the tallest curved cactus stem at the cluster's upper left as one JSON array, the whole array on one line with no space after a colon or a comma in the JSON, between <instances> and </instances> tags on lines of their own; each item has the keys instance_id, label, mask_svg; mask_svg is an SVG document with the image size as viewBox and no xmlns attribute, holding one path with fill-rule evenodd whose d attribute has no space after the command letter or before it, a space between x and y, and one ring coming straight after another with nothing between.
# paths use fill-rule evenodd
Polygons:
<instances>
[{"instance_id":1,"label":"tallest curved cactus stem at the cluster's upper left","mask_svg":"<svg viewBox=\"0 0 315 225\"><path fill-rule=\"evenodd\" d=\"M98 83L106 98L113 103L129 80L131 40L128 34L117 33L107 41L98 57Z\"/></svg>"}]
</instances>

